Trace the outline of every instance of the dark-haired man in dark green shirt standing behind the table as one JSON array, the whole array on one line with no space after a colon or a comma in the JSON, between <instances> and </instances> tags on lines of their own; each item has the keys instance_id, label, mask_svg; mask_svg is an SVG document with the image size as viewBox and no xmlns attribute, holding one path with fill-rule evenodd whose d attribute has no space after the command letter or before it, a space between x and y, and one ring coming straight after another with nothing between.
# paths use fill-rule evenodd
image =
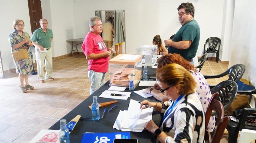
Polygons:
<instances>
[{"instance_id":1,"label":"dark-haired man in dark green shirt standing behind the table","mask_svg":"<svg viewBox=\"0 0 256 143\"><path fill-rule=\"evenodd\" d=\"M184 59L194 64L193 58L196 56L199 40L200 28L194 19L195 7L192 3L182 3L178 7L179 21L182 25L172 40L165 40L168 53L180 54Z\"/></svg>"}]
</instances>

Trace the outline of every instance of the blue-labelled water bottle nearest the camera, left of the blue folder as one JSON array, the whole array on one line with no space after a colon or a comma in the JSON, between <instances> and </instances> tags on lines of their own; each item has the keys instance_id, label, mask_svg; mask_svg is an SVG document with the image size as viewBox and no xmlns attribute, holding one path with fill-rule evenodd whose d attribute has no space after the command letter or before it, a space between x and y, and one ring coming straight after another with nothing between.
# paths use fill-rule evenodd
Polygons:
<instances>
[{"instance_id":1,"label":"blue-labelled water bottle nearest the camera, left of the blue folder","mask_svg":"<svg viewBox=\"0 0 256 143\"><path fill-rule=\"evenodd\" d=\"M66 119L60 120L59 141L60 143L70 143L69 129L67 128Z\"/></svg>"}]
</instances>

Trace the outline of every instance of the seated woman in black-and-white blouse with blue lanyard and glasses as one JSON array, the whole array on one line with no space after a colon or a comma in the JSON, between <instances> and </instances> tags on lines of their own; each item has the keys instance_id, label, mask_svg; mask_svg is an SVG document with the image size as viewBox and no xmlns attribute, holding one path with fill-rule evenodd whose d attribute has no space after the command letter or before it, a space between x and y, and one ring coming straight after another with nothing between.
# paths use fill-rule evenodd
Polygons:
<instances>
[{"instance_id":1,"label":"seated woman in black-and-white blouse with blue lanyard and glasses","mask_svg":"<svg viewBox=\"0 0 256 143\"><path fill-rule=\"evenodd\" d=\"M203 142L204 112L201 101L195 93L196 82L191 74L181 65L168 64L156 73L160 91L170 99L168 104L162 102L142 101L143 105L154 107L164 112L158 125L149 121L144 129L155 134L161 143Z\"/></svg>"}]
</instances>

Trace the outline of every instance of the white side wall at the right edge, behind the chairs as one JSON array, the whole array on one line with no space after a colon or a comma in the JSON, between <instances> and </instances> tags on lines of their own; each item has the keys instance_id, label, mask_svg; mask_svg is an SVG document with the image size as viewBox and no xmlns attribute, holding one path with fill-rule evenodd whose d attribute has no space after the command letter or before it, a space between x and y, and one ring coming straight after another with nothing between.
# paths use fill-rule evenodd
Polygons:
<instances>
[{"instance_id":1,"label":"white side wall at the right edge, behind the chairs","mask_svg":"<svg viewBox=\"0 0 256 143\"><path fill-rule=\"evenodd\" d=\"M229 65L244 64L246 70L243 78L251 77L255 85L256 18L252 14L254 15L256 10L245 7L256 7L256 1L236 1L235 3Z\"/></svg>"}]
</instances>

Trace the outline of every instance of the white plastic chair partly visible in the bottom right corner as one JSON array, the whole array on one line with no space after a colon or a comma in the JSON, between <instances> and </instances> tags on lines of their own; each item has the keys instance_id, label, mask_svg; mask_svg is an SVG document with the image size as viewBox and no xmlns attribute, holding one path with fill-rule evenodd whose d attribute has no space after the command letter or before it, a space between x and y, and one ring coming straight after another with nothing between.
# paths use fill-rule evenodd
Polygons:
<instances>
[{"instance_id":1,"label":"white plastic chair partly visible in the bottom right corner","mask_svg":"<svg viewBox=\"0 0 256 143\"><path fill-rule=\"evenodd\" d=\"M250 143L256 140L256 130L242 129L238 143Z\"/></svg>"}]
</instances>

